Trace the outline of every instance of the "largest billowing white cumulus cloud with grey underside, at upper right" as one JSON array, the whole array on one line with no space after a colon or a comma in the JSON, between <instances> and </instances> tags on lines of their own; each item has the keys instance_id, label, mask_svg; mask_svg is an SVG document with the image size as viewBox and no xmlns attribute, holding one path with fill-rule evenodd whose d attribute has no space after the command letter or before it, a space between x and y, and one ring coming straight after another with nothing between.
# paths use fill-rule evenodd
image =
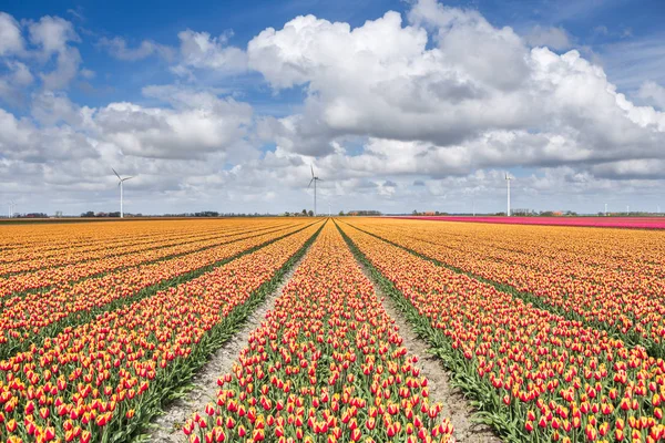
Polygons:
<instances>
[{"instance_id":1,"label":"largest billowing white cumulus cloud with grey underside, at upper right","mask_svg":"<svg viewBox=\"0 0 665 443\"><path fill-rule=\"evenodd\" d=\"M351 29L307 16L254 38L249 66L275 90L307 92L303 112L264 122L263 136L304 155L368 136L345 162L391 174L663 156L665 114L633 104L577 51L531 49L511 28L433 0L408 19L388 12Z\"/></svg>"}]
</instances>

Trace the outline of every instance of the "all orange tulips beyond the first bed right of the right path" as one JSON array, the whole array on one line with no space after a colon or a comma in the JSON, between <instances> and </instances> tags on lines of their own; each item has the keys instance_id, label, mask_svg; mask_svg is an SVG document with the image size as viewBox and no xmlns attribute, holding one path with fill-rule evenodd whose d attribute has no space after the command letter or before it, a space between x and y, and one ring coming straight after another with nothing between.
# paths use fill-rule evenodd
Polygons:
<instances>
[{"instance_id":1,"label":"all orange tulips beyond the first bed right of the right path","mask_svg":"<svg viewBox=\"0 0 665 443\"><path fill-rule=\"evenodd\" d=\"M659 241L654 243L652 238L631 244L612 241L612 237L642 239L645 231L556 228L567 230L569 241L563 243L574 241L574 246L565 254L555 254L562 246L545 247L548 243L542 240L554 229L552 227L519 227L524 231L536 230L533 238L541 239L540 249L529 251L524 244L532 243L524 237L530 237L523 235L515 240L498 233L492 235L495 229L492 225L475 225L484 229L474 228L473 233L482 230L487 233L484 236L451 240L452 233L447 230L452 230L450 224L413 224L419 222L372 220L354 225L460 271L497 282L504 290L553 312L643 344L655 357L665 357L665 298L662 296L665 293L665 233L647 233L659 236L656 238ZM594 237L598 230L603 234L602 243ZM633 254L623 250L631 247Z\"/></svg>"}]
</instances>

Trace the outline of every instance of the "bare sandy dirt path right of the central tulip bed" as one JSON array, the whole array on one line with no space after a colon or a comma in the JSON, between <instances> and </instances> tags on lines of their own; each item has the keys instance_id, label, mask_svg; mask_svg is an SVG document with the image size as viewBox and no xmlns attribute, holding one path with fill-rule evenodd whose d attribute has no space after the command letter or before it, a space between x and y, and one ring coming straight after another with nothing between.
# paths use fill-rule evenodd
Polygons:
<instances>
[{"instance_id":1,"label":"bare sandy dirt path right of the central tulip bed","mask_svg":"<svg viewBox=\"0 0 665 443\"><path fill-rule=\"evenodd\" d=\"M448 371L439 360L428 353L427 343L419 339L411 326L405 320L400 310L396 307L392 299L386 296L381 289L374 284L367 269L358 264L367 278L372 282L377 297L381 300L383 308L399 327L399 334L403 339L403 344L410 354L418 357L418 365L421 375L427 377L429 381L429 394L431 400L443 405L442 416L450 419L453 426L453 436L460 443L499 443L499 439L492 429L487 424L474 423L471 421L473 409L464 399L459 389L450 385Z\"/></svg>"}]
</instances>

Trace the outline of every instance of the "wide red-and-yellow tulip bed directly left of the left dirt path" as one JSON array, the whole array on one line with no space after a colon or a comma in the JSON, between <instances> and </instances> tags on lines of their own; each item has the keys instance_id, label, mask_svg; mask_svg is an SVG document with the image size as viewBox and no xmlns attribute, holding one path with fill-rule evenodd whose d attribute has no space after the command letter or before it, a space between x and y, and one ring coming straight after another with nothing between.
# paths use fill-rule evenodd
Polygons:
<instances>
[{"instance_id":1,"label":"wide red-and-yellow tulip bed directly left of the left dirt path","mask_svg":"<svg viewBox=\"0 0 665 443\"><path fill-rule=\"evenodd\" d=\"M131 440L277 285L317 225L1 361L0 440Z\"/></svg>"}]
</instances>

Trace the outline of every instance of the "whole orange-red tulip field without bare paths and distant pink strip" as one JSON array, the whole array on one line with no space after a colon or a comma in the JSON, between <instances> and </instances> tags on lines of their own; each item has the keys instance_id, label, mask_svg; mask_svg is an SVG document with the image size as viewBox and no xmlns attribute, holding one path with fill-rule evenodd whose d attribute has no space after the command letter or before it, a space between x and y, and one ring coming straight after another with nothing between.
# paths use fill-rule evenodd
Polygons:
<instances>
[{"instance_id":1,"label":"whole orange-red tulip field without bare paths and distant pink strip","mask_svg":"<svg viewBox=\"0 0 665 443\"><path fill-rule=\"evenodd\" d=\"M151 441L247 321L178 441L460 441L396 316L498 440L665 441L664 295L664 230L0 224L0 442Z\"/></svg>"}]
</instances>

